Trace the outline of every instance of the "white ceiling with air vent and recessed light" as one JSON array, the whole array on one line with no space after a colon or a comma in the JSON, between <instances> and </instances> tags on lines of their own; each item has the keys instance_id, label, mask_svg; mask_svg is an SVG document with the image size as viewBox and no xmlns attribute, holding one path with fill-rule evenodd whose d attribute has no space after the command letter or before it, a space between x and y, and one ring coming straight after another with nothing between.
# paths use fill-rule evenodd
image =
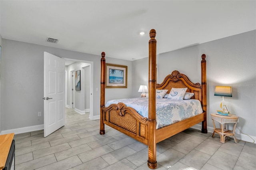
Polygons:
<instances>
[{"instance_id":1,"label":"white ceiling with air vent and recessed light","mask_svg":"<svg viewBox=\"0 0 256 170\"><path fill-rule=\"evenodd\" d=\"M152 28L158 54L256 30L256 1L243 0L1 0L0 12L4 39L126 60L148 56Z\"/></svg>"}]
</instances>

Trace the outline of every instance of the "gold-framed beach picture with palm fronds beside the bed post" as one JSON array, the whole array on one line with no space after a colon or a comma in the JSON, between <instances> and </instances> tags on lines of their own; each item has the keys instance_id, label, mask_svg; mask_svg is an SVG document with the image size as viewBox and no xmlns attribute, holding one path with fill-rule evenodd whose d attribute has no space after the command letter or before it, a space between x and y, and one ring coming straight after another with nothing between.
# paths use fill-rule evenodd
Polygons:
<instances>
[{"instance_id":1,"label":"gold-framed beach picture with palm fronds beside the bed post","mask_svg":"<svg viewBox=\"0 0 256 170\"><path fill-rule=\"evenodd\" d=\"M127 66L106 63L106 88L127 88Z\"/></svg>"}]
</instances>

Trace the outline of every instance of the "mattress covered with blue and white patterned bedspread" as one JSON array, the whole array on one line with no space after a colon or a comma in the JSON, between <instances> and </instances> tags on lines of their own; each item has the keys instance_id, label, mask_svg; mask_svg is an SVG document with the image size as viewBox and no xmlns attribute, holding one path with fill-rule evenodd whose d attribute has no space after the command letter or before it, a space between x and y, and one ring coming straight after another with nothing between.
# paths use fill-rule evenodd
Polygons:
<instances>
[{"instance_id":1,"label":"mattress covered with blue and white patterned bedspread","mask_svg":"<svg viewBox=\"0 0 256 170\"><path fill-rule=\"evenodd\" d=\"M148 97L111 100L106 103L106 107L113 103L117 104L120 102L124 103L128 107L132 107L141 116L148 117ZM201 113L203 113L201 102L196 99L156 99L156 129L188 119Z\"/></svg>"}]
</instances>

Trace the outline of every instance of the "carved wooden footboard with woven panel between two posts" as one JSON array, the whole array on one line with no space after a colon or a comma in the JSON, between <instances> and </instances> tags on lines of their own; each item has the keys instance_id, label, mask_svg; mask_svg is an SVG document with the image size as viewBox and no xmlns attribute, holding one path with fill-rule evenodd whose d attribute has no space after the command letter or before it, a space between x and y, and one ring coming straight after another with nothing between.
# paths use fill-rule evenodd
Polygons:
<instances>
[{"instance_id":1,"label":"carved wooden footboard with woven panel between two posts","mask_svg":"<svg viewBox=\"0 0 256 170\"><path fill-rule=\"evenodd\" d=\"M103 123L148 145L148 119L124 103L102 107Z\"/></svg>"}]
</instances>

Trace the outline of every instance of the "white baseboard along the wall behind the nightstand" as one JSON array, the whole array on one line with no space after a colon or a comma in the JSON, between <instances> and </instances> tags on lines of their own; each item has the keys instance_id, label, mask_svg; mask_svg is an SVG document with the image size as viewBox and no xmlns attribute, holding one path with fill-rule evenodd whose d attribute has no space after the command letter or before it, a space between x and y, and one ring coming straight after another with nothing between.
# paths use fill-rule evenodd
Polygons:
<instances>
[{"instance_id":1,"label":"white baseboard along the wall behind the nightstand","mask_svg":"<svg viewBox=\"0 0 256 170\"><path fill-rule=\"evenodd\" d=\"M202 125L197 124L197 125L192 126L191 128L201 130ZM213 133L214 128L213 127L207 127L207 130L208 130L208 133L209 132ZM236 136L236 139L238 139L238 140L243 140L243 141L246 141L246 142L253 142L253 140L254 140L254 143L256 142L256 136L250 136L251 137L250 138L248 135L241 133L238 129L235 130L235 136Z\"/></svg>"}]
</instances>

